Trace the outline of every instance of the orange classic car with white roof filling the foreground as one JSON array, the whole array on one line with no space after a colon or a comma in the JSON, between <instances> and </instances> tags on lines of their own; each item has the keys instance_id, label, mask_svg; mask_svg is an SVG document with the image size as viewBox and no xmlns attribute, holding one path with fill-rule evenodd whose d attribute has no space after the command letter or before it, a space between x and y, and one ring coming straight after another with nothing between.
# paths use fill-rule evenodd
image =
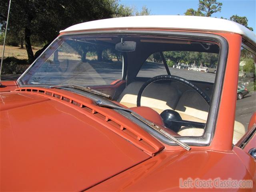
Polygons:
<instances>
[{"instance_id":1,"label":"orange classic car with white roof filling the foreground","mask_svg":"<svg viewBox=\"0 0 256 192\"><path fill-rule=\"evenodd\" d=\"M236 108L241 47L256 55L253 32L210 17L60 31L1 82L0 190L255 191L256 113ZM189 54L217 58L216 74L168 67Z\"/></svg>"}]
</instances>

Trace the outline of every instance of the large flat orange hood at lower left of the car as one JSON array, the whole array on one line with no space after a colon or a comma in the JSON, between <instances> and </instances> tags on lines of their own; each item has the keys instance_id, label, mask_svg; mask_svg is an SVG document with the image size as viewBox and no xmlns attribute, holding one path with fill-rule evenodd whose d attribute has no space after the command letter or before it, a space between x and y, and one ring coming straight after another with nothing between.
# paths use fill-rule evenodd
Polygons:
<instances>
[{"instance_id":1,"label":"large flat orange hood at lower left of the car","mask_svg":"<svg viewBox=\"0 0 256 192\"><path fill-rule=\"evenodd\" d=\"M0 96L1 191L81 191L150 158L54 99L15 91Z\"/></svg>"}]
</instances>

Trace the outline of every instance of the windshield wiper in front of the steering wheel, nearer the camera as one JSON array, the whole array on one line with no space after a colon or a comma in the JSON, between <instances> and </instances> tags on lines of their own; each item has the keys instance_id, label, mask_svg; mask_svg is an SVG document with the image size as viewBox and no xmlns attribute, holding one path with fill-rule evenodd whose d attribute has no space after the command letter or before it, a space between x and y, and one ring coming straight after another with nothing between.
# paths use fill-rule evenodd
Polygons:
<instances>
[{"instance_id":1,"label":"windshield wiper in front of the steering wheel, nearer the camera","mask_svg":"<svg viewBox=\"0 0 256 192\"><path fill-rule=\"evenodd\" d=\"M173 142L175 142L176 144L178 144L182 148L184 148L186 150L190 150L190 146L188 146L186 143L176 139L174 136L170 135L168 132L166 132L165 130L163 130L162 128L157 126L156 124L150 122L149 120L146 120L144 117L140 116L139 114L137 114L136 112L134 112L134 111L132 111L130 109L122 108L122 107L111 105L111 104L106 104L106 103L102 102L101 100L96 101L96 104L98 106L101 106L101 107L108 107L108 108L114 108L114 109L120 109L120 110L128 111L128 112L130 112L132 114L132 116L134 116L135 118L137 118L141 122L147 124L148 126L153 128L157 132L161 133L162 135L166 136L168 139L172 140Z\"/></svg>"}]
</instances>

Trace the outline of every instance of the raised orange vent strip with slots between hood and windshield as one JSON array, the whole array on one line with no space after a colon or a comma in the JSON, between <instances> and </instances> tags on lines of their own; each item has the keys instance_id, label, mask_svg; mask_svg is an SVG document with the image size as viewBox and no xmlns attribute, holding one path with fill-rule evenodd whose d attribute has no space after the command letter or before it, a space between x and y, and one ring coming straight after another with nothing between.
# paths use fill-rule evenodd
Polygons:
<instances>
[{"instance_id":1,"label":"raised orange vent strip with slots between hood and windshield","mask_svg":"<svg viewBox=\"0 0 256 192\"><path fill-rule=\"evenodd\" d=\"M21 91L21 92L31 92L34 94L40 94L42 96L51 97L52 99L59 100L60 102L64 102L66 104L71 104L73 106L76 106L80 112L83 114L88 114L91 116L91 118L95 119L97 122L101 123L102 125L106 126L106 128L112 130L116 134L120 135L121 137L125 138L129 142L133 143L135 146L149 154L150 156L154 156L155 153L159 152L164 148L160 142L158 142L155 138L148 135L145 136L145 134L140 134L138 130L134 129L132 126L126 126L122 123L118 123L112 118L106 114L102 114L97 110L98 106L92 106L92 104L89 104L87 106L86 104L83 104L81 101L75 101L72 98L68 98L67 96L62 96L60 93L54 93L54 91L49 92L46 88L20 88L15 91Z\"/></svg>"}]
</instances>

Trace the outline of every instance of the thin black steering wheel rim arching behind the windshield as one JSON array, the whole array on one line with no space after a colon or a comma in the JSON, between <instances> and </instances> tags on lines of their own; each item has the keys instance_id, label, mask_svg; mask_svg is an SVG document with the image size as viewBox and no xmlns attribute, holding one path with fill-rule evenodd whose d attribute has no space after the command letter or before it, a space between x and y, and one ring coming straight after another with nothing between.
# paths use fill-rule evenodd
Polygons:
<instances>
[{"instance_id":1,"label":"thin black steering wheel rim arching behind the windshield","mask_svg":"<svg viewBox=\"0 0 256 192\"><path fill-rule=\"evenodd\" d=\"M152 84L156 81L160 81L160 80L172 80L172 81L181 82L183 84L186 84L187 86L196 90L196 92L198 92L202 96L202 98L204 98L204 100L207 102L207 104L210 105L210 101L211 101L210 98L203 92L202 89L200 89L198 86L191 83L190 81L188 81L184 78L178 77L178 76L174 76L174 75L159 75L159 76L155 76L155 77L152 77L149 80L147 80L140 88L140 90L138 92L138 96L137 96L137 106L138 107L140 106L142 93L146 89L146 87L149 86L150 84Z\"/></svg>"}]
</instances>

